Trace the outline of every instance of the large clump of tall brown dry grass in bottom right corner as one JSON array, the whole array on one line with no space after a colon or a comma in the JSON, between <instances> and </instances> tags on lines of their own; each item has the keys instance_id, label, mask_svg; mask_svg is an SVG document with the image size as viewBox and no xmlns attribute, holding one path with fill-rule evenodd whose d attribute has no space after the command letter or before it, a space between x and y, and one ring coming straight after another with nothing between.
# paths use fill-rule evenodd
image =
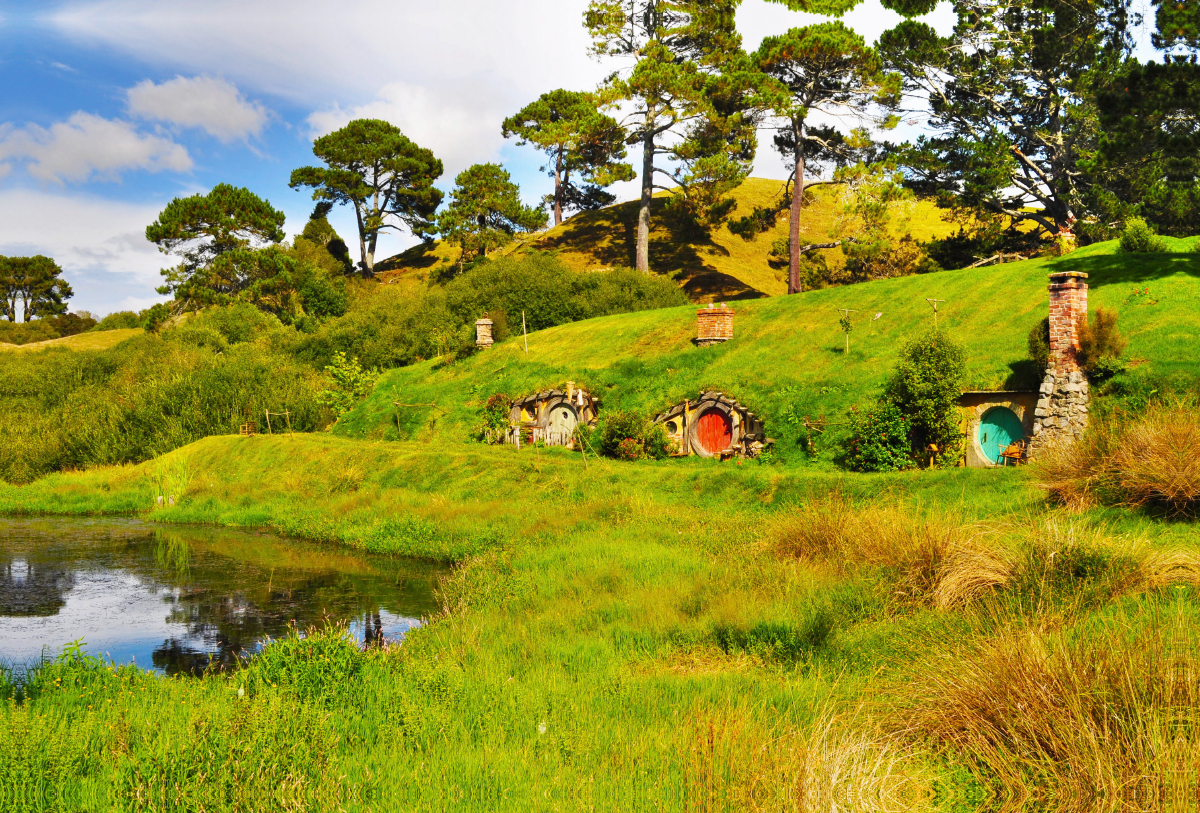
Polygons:
<instances>
[{"instance_id":1,"label":"large clump of tall brown dry grass in bottom right corner","mask_svg":"<svg viewBox=\"0 0 1200 813\"><path fill-rule=\"evenodd\" d=\"M1182 612L1008 630L907 675L898 724L967 766L1002 807L1200 805L1200 634Z\"/></svg>"}]
</instances>

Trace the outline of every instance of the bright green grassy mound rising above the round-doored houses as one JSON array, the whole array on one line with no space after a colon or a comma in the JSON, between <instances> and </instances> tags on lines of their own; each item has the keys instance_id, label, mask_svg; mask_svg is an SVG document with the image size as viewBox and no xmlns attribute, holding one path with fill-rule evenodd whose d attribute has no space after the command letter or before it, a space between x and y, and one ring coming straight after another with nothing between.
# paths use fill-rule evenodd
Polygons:
<instances>
[{"instance_id":1,"label":"bright green grassy mound rising above the round-doored houses","mask_svg":"<svg viewBox=\"0 0 1200 813\"><path fill-rule=\"evenodd\" d=\"M461 362L391 371L336 432L466 440L492 393L522 396L568 380L599 393L604 409L643 415L714 387L764 416L788 456L797 453L805 415L836 422L878 392L904 344L932 326L926 299L944 300L940 326L967 350L970 389L1036 387L1040 375L1026 341L1046 313L1046 275L1056 270L1090 273L1091 308L1120 314L1129 375L1195 374L1200 254L1184 252L1192 241L1172 246L1178 253L1118 255L1115 243L1100 243L1061 259L737 302L734 341L703 350L691 344L694 307L562 325L530 335L528 355L518 337ZM856 311L848 354L840 308Z\"/></svg>"}]
</instances>

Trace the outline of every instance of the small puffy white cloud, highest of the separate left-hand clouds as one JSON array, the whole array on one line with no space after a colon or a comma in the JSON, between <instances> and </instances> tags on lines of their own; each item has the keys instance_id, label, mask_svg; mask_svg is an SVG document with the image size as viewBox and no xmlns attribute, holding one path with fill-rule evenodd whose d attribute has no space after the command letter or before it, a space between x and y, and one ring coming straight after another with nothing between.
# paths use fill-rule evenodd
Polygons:
<instances>
[{"instance_id":1,"label":"small puffy white cloud, highest of the separate left-hand clouds","mask_svg":"<svg viewBox=\"0 0 1200 813\"><path fill-rule=\"evenodd\" d=\"M215 77L175 77L157 85L146 79L127 94L130 115L198 127L226 144L260 134L269 118L262 104Z\"/></svg>"}]
</instances>

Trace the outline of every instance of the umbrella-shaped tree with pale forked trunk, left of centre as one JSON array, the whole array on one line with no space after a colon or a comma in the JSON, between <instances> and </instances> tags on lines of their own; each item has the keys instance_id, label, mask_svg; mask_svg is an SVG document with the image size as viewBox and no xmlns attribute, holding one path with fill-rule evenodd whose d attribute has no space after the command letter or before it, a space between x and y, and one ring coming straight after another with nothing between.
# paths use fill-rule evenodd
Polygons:
<instances>
[{"instance_id":1,"label":"umbrella-shaped tree with pale forked trunk, left of centre","mask_svg":"<svg viewBox=\"0 0 1200 813\"><path fill-rule=\"evenodd\" d=\"M395 125L356 119L313 141L312 152L325 165L294 170L289 186L312 187L313 200L354 207L365 276L374 275L383 231L407 228L418 237L434 233L442 191L433 182L442 176L442 162Z\"/></svg>"}]
</instances>

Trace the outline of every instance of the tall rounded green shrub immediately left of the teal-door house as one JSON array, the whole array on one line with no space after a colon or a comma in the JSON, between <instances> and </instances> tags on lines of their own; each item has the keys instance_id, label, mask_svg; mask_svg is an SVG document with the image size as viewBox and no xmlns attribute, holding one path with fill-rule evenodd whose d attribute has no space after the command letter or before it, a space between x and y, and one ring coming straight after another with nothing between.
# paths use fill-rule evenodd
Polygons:
<instances>
[{"instance_id":1,"label":"tall rounded green shrub immediately left of the teal-door house","mask_svg":"<svg viewBox=\"0 0 1200 813\"><path fill-rule=\"evenodd\" d=\"M962 454L959 397L966 374L962 348L943 331L932 330L910 343L883 393L886 403L908 420L908 445L917 460L937 446L937 462L954 465Z\"/></svg>"}]
</instances>

